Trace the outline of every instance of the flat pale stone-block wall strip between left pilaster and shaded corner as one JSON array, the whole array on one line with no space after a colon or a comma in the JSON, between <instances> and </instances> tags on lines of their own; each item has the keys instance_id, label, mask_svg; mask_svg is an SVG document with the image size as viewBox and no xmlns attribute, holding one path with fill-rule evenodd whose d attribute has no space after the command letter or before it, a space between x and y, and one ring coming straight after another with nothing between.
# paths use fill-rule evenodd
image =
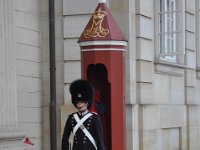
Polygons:
<instances>
[{"instance_id":1,"label":"flat pale stone-block wall strip between left pilaster and shaded corner","mask_svg":"<svg viewBox=\"0 0 200 150\"><path fill-rule=\"evenodd\" d=\"M14 0L18 127L42 147L40 1Z\"/></svg>"}]
</instances>

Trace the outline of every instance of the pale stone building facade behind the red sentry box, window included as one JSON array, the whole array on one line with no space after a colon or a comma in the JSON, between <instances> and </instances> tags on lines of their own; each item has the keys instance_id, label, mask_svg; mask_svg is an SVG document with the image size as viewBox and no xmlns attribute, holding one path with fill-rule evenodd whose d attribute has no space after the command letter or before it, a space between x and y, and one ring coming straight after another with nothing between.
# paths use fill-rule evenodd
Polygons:
<instances>
[{"instance_id":1,"label":"pale stone building facade behind the red sentry box, window included","mask_svg":"<svg viewBox=\"0 0 200 150\"><path fill-rule=\"evenodd\" d=\"M48 0L0 0L0 149L50 149ZM200 147L200 0L107 0L128 40L126 149ZM55 1L57 149L98 1ZM24 148L25 149L25 148Z\"/></svg>"}]
</instances>

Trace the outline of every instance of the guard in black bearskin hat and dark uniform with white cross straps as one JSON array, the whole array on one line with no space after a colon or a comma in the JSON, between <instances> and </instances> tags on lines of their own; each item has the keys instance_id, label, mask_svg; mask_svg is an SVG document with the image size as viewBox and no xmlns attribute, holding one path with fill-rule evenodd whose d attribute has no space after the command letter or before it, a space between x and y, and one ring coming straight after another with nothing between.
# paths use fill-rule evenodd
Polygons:
<instances>
[{"instance_id":1,"label":"guard in black bearskin hat and dark uniform with white cross straps","mask_svg":"<svg viewBox=\"0 0 200 150\"><path fill-rule=\"evenodd\" d=\"M69 115L62 138L62 150L105 150L100 116L91 112L94 87L87 80L75 80L70 85L71 100L78 109ZM73 142L70 147L69 138Z\"/></svg>"}]
</instances>

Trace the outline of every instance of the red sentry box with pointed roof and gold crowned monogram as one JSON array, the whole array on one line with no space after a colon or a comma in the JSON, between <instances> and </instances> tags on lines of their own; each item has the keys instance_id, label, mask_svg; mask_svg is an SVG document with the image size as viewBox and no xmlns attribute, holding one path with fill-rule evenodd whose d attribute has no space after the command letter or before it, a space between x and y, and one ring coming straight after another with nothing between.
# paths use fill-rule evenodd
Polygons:
<instances>
[{"instance_id":1,"label":"red sentry box with pointed roof and gold crowned monogram","mask_svg":"<svg viewBox=\"0 0 200 150\"><path fill-rule=\"evenodd\" d=\"M95 87L92 111L101 116L106 150L125 150L125 47L105 1L99 2L78 44L82 78Z\"/></svg>"}]
</instances>

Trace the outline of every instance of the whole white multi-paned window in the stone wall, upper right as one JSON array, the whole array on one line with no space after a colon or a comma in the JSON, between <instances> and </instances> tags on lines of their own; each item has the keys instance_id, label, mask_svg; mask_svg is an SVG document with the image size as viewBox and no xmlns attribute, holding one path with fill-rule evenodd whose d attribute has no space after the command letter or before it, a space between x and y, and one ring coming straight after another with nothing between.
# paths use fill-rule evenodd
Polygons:
<instances>
[{"instance_id":1,"label":"whole white multi-paned window in the stone wall, upper right","mask_svg":"<svg viewBox=\"0 0 200 150\"><path fill-rule=\"evenodd\" d=\"M157 57L160 60L181 63L185 51L182 0L157 0Z\"/></svg>"}]
</instances>

